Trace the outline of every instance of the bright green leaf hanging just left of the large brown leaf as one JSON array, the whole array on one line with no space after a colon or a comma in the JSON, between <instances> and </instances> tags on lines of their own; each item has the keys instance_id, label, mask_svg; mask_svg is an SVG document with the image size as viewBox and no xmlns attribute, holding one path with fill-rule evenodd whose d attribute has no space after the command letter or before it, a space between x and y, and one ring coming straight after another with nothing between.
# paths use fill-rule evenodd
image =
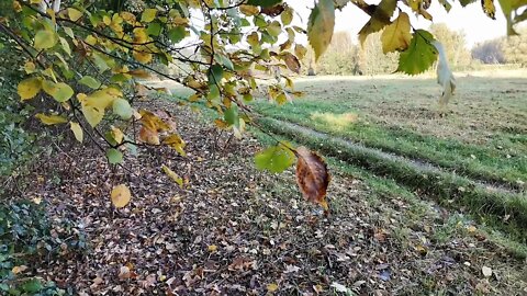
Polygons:
<instances>
[{"instance_id":1,"label":"bright green leaf hanging just left of the large brown leaf","mask_svg":"<svg viewBox=\"0 0 527 296\"><path fill-rule=\"evenodd\" d=\"M294 163L294 153L283 145L271 146L256 153L255 164L259 170L281 173Z\"/></svg>"}]
</instances>

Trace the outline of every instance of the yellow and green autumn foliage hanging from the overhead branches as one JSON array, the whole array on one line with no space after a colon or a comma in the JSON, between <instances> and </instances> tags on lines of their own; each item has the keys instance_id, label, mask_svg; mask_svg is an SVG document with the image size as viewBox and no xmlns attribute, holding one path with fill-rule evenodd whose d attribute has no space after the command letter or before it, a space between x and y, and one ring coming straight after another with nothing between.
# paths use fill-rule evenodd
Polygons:
<instances>
[{"instance_id":1,"label":"yellow and green autumn foliage hanging from the overhead branches","mask_svg":"<svg viewBox=\"0 0 527 296\"><path fill-rule=\"evenodd\" d=\"M451 1L438 1L450 10ZM442 46L408 18L415 13L431 21L430 2L318 0L307 27L301 27L293 7L281 0L14 0L0 4L0 32L3 46L20 52L25 72L18 83L21 101L43 106L34 116L44 125L69 125L78 141L89 138L110 163L121 164L137 145L165 145L186 155L186 141L168 117L136 107L148 92L144 79L157 75L192 89L189 102L215 110L217 127L240 136L247 124L257 125L247 103L258 91L278 104L301 95L285 75L299 73L307 53L298 36L307 35L317 60L330 44L335 10L345 5L370 15L359 41L382 31L383 53L400 53L397 71L418 75L439 59L438 81L448 101L455 83ZM474 0L459 2L464 7ZM515 34L514 25L527 19L523 10L527 1L497 2L508 33ZM497 3L482 0L481 4L494 19ZM157 65L177 65L178 75L160 71ZM261 75L269 69L274 78ZM256 164L280 172L295 158L304 197L326 206L329 175L315 153L278 143L259 152ZM179 180L177 172L167 174ZM131 194L121 184L111 198L122 207Z\"/></svg>"}]
</instances>

